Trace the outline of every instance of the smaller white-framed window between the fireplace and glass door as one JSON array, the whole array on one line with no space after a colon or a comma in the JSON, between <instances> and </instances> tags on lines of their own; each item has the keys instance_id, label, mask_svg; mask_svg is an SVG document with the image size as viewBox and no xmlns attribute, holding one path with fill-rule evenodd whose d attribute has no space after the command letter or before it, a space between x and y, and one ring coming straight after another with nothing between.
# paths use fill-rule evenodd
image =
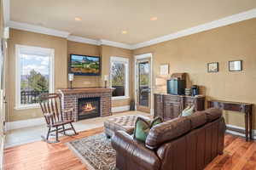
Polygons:
<instances>
[{"instance_id":1,"label":"smaller white-framed window between the fireplace and glass door","mask_svg":"<svg viewBox=\"0 0 256 170\"><path fill-rule=\"evenodd\" d=\"M111 57L110 85L113 90L113 99L129 98L129 59Z\"/></svg>"}]
</instances>

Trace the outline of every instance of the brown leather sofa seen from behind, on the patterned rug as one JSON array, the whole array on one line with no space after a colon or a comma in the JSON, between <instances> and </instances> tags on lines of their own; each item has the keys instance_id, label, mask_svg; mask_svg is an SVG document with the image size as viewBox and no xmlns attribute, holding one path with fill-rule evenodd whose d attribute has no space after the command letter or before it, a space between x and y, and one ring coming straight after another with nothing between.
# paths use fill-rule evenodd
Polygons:
<instances>
[{"instance_id":1,"label":"brown leather sofa seen from behind, on the patterned rug","mask_svg":"<svg viewBox=\"0 0 256 170\"><path fill-rule=\"evenodd\" d=\"M201 170L224 150L222 111L211 108L154 126L145 144L118 131L113 135L119 170Z\"/></svg>"}]
</instances>

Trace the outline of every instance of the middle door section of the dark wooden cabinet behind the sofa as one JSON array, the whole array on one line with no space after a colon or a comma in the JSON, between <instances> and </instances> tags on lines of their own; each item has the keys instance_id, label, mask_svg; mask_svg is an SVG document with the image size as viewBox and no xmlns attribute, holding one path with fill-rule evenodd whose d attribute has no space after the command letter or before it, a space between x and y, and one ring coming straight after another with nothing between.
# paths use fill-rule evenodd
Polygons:
<instances>
[{"instance_id":1,"label":"middle door section of the dark wooden cabinet behind the sofa","mask_svg":"<svg viewBox=\"0 0 256 170\"><path fill-rule=\"evenodd\" d=\"M179 102L164 102L164 120L168 121L176 118L181 113L181 105Z\"/></svg>"}]
</instances>

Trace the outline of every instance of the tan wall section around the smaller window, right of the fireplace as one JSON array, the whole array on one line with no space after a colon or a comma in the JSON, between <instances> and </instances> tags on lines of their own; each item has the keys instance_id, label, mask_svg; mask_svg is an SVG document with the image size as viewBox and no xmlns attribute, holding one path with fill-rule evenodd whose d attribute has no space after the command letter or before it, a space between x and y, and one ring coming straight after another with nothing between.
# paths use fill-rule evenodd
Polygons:
<instances>
[{"instance_id":1,"label":"tan wall section around the smaller window, right of the fireplace","mask_svg":"<svg viewBox=\"0 0 256 170\"><path fill-rule=\"evenodd\" d=\"M129 90L130 90L130 99L133 98L133 84L132 84L132 74L133 74L133 57L132 57L132 51L129 49L124 48L113 48L110 46L102 45L102 63L107 63L107 65L102 65L102 86L104 82L104 75L109 75L110 70L110 57L125 57L129 58L129 74L130 74L130 83L129 83ZM109 83L108 83L109 84ZM130 99L124 99L124 100L118 100L113 101L112 106L122 106L122 105L130 105Z\"/></svg>"}]
</instances>

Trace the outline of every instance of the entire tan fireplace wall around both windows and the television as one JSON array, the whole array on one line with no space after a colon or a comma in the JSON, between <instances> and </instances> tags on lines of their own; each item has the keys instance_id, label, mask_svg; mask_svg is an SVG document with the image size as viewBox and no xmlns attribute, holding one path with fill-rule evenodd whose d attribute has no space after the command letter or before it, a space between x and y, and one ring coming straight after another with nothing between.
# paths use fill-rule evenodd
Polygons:
<instances>
[{"instance_id":1,"label":"entire tan fireplace wall around both windows and the television","mask_svg":"<svg viewBox=\"0 0 256 170\"><path fill-rule=\"evenodd\" d=\"M42 48L55 48L55 89L67 88L67 62L69 54L87 54L102 56L102 77L75 77L73 87L99 87L103 86L103 75L109 75L110 56L121 56L130 59L132 66L132 51L123 48L109 46L96 46L80 42L67 41L65 38L52 37L29 31L10 30L8 40L9 57L7 60L7 100L8 100L8 122L26 120L42 117L40 109L15 110L15 44L37 46ZM102 55L101 55L102 54ZM132 68L130 68L132 75ZM132 76L130 76L131 78ZM132 84L131 84L132 85ZM132 86L130 95L132 97ZM130 105L130 100L113 101L113 106Z\"/></svg>"}]
</instances>

